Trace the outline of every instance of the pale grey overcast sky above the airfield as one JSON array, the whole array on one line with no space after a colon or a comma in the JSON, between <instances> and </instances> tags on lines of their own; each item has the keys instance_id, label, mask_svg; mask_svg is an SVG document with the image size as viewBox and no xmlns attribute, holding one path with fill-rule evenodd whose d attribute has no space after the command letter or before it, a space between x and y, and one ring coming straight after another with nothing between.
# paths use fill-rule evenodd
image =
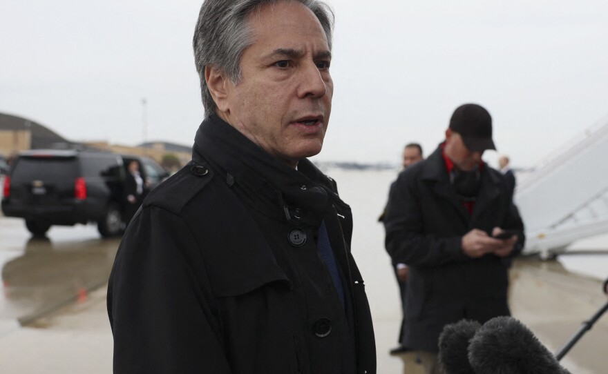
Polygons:
<instances>
[{"instance_id":1,"label":"pale grey overcast sky above the airfield","mask_svg":"<svg viewBox=\"0 0 608 374\"><path fill-rule=\"evenodd\" d=\"M608 2L328 1L334 99L318 160L431 152L453 110L485 106L499 151L533 166L608 121ZM0 112L75 141L191 145L200 1L3 0ZM495 165L496 155L487 161Z\"/></svg>"}]
</instances>

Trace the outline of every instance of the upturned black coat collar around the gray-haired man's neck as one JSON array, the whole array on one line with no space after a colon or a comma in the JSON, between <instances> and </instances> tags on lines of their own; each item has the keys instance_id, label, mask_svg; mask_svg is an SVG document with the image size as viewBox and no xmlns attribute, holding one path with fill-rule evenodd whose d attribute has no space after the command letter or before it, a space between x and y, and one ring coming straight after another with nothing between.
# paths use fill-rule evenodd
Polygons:
<instances>
[{"instance_id":1,"label":"upturned black coat collar around the gray-haired man's neck","mask_svg":"<svg viewBox=\"0 0 608 374\"><path fill-rule=\"evenodd\" d=\"M238 187L245 200L263 213L291 221L299 209L298 224L319 224L330 206L330 195L335 195L330 180L308 159L294 170L216 115L205 119L196 132L193 161L202 159L218 168L231 180L229 185Z\"/></svg>"}]
</instances>

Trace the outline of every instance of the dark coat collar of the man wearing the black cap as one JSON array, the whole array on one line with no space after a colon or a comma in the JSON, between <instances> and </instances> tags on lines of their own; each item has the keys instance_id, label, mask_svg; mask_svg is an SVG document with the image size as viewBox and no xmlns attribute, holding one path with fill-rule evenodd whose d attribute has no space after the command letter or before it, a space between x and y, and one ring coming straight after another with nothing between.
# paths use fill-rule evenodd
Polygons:
<instances>
[{"instance_id":1,"label":"dark coat collar of the man wearing the black cap","mask_svg":"<svg viewBox=\"0 0 608 374\"><path fill-rule=\"evenodd\" d=\"M477 215L483 212L488 204L500 195L500 178L495 173L491 173L489 166L484 163L480 176L481 186L479 188L479 195L477 195L477 200L473 207L473 215L470 216L450 184L446 164L441 155L441 145L426 160L421 162L421 168L421 179L429 184L433 184L432 188L435 194L450 201L450 204L453 204L465 222L475 222Z\"/></svg>"}]
</instances>

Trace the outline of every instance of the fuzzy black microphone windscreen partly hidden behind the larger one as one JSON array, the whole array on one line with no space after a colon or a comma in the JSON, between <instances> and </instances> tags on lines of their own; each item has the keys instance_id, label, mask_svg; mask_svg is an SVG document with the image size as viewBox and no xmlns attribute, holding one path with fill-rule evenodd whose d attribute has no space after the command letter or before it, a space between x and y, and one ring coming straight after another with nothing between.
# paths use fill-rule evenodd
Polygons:
<instances>
[{"instance_id":1,"label":"fuzzy black microphone windscreen partly hidden behind the larger one","mask_svg":"<svg viewBox=\"0 0 608 374\"><path fill-rule=\"evenodd\" d=\"M475 374L468 363L468 344L481 325L463 319L448 324L439 335L439 363L446 374Z\"/></svg>"}]
</instances>

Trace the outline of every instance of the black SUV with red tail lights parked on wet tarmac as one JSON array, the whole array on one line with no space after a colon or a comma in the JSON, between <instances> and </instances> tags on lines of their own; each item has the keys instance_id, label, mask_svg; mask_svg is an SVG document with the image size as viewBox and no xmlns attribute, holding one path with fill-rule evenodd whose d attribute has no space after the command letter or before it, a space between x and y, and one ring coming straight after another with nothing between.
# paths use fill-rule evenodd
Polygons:
<instances>
[{"instance_id":1,"label":"black SUV with red tail lights parked on wet tarmac","mask_svg":"<svg viewBox=\"0 0 608 374\"><path fill-rule=\"evenodd\" d=\"M21 217L35 236L51 225L97 222L103 237L124 230L124 180L126 165L140 162L140 173L149 188L167 177L146 157L82 150L31 150L12 162L3 186L2 212Z\"/></svg>"}]
</instances>

